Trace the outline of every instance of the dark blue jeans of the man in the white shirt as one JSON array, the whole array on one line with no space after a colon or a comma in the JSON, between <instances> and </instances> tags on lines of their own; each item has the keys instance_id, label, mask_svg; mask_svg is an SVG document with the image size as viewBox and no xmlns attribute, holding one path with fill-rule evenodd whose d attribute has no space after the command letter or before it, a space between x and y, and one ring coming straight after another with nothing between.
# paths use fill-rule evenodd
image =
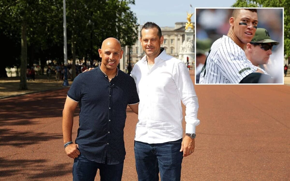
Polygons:
<instances>
[{"instance_id":1,"label":"dark blue jeans of the man in the white shirt","mask_svg":"<svg viewBox=\"0 0 290 181\"><path fill-rule=\"evenodd\" d=\"M182 138L165 143L148 144L135 141L135 161L139 181L180 180L183 152Z\"/></svg>"}]
</instances>

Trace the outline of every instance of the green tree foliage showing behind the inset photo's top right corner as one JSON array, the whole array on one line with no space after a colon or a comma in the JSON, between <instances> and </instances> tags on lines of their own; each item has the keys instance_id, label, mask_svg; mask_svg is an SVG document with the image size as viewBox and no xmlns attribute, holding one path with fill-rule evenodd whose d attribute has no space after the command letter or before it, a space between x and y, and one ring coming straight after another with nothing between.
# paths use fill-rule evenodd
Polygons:
<instances>
[{"instance_id":1,"label":"green tree foliage showing behind the inset photo's top right corner","mask_svg":"<svg viewBox=\"0 0 290 181\"><path fill-rule=\"evenodd\" d=\"M290 57L290 1L289 0L237 0L232 7L284 7L284 55Z\"/></svg>"}]
</instances>

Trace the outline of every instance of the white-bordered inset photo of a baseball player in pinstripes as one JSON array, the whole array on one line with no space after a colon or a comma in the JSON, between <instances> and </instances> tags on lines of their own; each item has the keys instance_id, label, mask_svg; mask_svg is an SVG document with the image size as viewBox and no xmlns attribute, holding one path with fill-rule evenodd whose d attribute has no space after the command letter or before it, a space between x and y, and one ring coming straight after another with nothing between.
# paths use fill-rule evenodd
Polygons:
<instances>
[{"instance_id":1,"label":"white-bordered inset photo of a baseball player in pinstripes","mask_svg":"<svg viewBox=\"0 0 290 181\"><path fill-rule=\"evenodd\" d=\"M195 84L284 84L284 8L195 8Z\"/></svg>"}]
</instances>

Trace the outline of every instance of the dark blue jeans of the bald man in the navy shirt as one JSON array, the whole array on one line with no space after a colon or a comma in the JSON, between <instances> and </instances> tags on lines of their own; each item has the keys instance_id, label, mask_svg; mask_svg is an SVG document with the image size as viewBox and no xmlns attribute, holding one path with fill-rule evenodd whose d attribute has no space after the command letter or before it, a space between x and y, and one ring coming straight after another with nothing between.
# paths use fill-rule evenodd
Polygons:
<instances>
[{"instance_id":1,"label":"dark blue jeans of the bald man in the navy shirt","mask_svg":"<svg viewBox=\"0 0 290 181\"><path fill-rule=\"evenodd\" d=\"M98 169L101 181L120 181L123 166L124 162L115 165L93 162L80 154L73 163L73 181L94 181Z\"/></svg>"}]
</instances>

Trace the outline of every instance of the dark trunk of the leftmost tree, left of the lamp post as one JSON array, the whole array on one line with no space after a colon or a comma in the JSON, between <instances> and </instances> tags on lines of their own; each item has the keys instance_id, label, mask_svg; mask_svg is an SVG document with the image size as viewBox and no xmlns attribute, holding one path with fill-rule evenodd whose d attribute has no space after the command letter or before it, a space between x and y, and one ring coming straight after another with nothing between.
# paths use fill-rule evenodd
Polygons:
<instances>
[{"instance_id":1,"label":"dark trunk of the leftmost tree, left of the lamp post","mask_svg":"<svg viewBox=\"0 0 290 181\"><path fill-rule=\"evenodd\" d=\"M20 66L20 90L27 90L26 70L27 70L27 37L26 37L26 20L21 23L21 66Z\"/></svg>"}]
</instances>

